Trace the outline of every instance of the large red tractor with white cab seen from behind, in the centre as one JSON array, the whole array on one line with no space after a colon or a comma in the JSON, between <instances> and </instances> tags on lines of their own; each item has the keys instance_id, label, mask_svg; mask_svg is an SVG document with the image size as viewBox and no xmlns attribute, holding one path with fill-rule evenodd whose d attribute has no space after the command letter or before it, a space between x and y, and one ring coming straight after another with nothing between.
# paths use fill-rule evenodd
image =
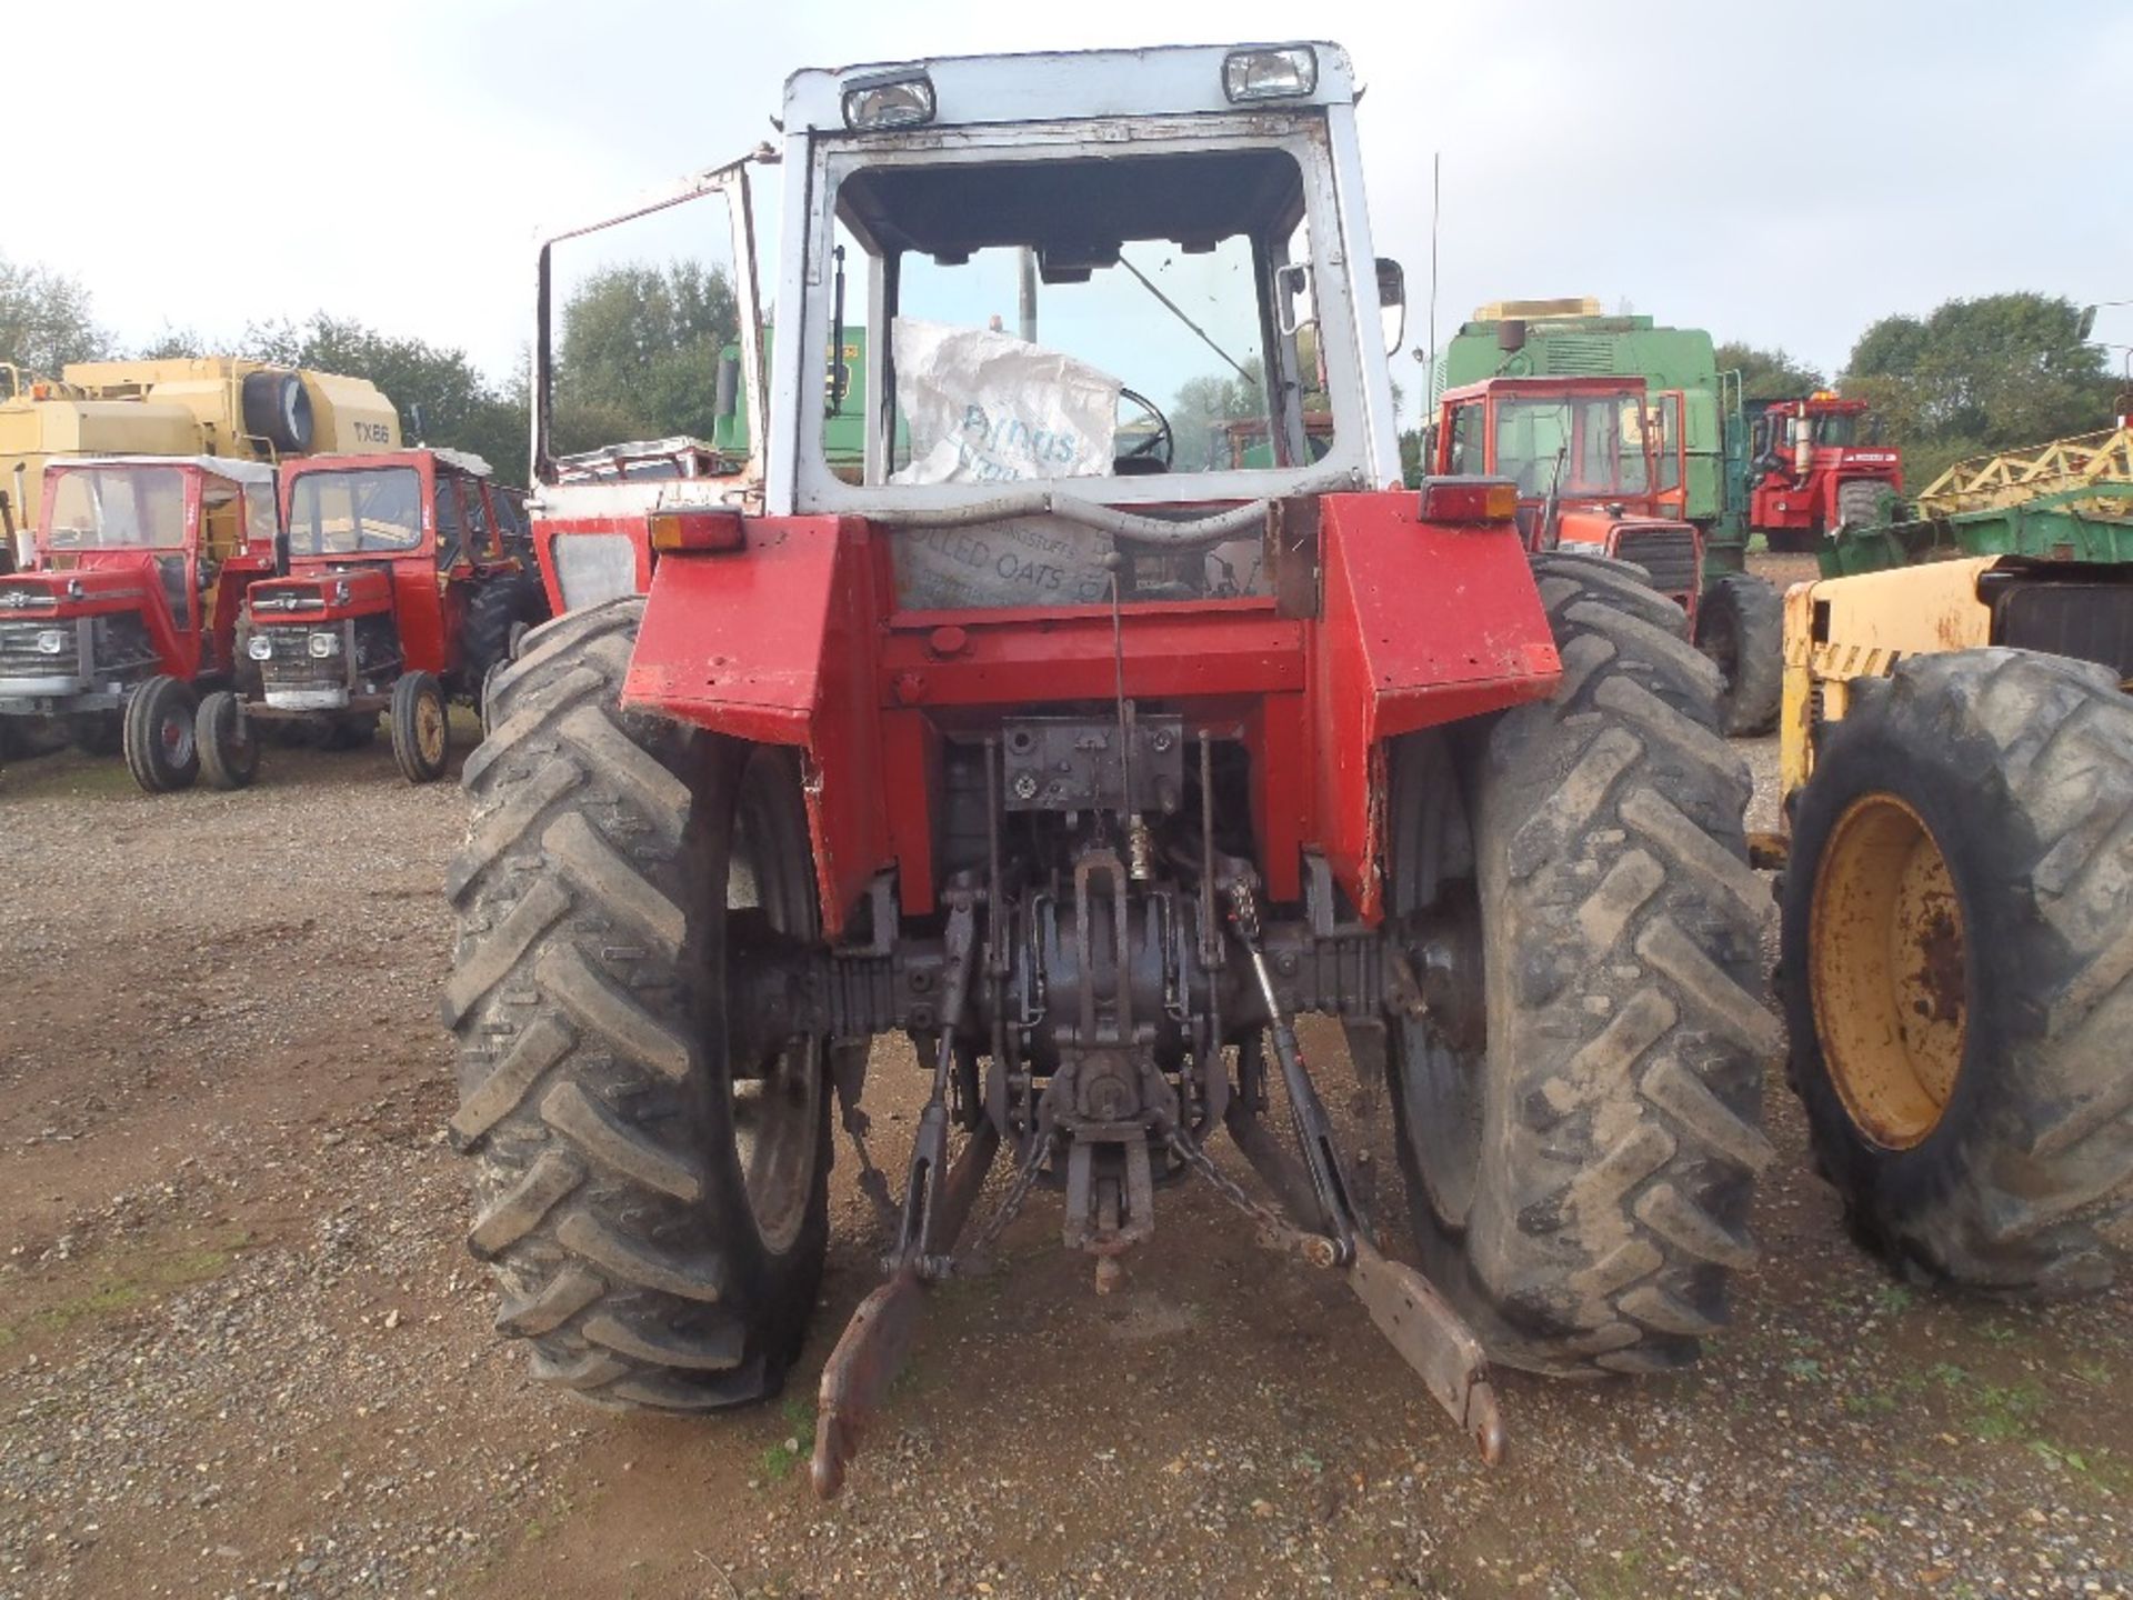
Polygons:
<instances>
[{"instance_id":1,"label":"large red tractor with white cab seen from behind, in the centre","mask_svg":"<svg viewBox=\"0 0 2133 1600\"><path fill-rule=\"evenodd\" d=\"M444 1018L497 1327L610 1406L776 1393L838 1105L894 1244L823 1367L823 1493L926 1286L1039 1190L1103 1291L1207 1182L1239 1237L1342 1274L1485 1459L1491 1359L1691 1361L1753 1259L1781 1045L1747 772L1634 567L1536 555L1508 478L1399 486L1401 273L1346 53L804 70L781 128L768 382L757 158L674 196L736 226L770 418L744 471L559 480L540 252L538 525L657 563L527 638L465 764ZM996 326L1017 275L1024 337ZM892 356L860 471L821 403L851 316ZM1173 465L1154 397L1235 371L1267 463ZM1357 1182L1303 1011L1346 1026L1401 1214ZM883 1035L926 1084L894 1201Z\"/></svg>"}]
</instances>

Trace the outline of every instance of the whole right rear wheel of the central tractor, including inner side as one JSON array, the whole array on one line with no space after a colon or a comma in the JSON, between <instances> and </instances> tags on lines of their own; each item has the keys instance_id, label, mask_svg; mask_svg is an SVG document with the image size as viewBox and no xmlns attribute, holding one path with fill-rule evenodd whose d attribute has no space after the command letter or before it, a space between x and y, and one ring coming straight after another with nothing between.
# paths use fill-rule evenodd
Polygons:
<instances>
[{"instance_id":1,"label":"whole right rear wheel of the central tractor, including inner side","mask_svg":"<svg viewBox=\"0 0 2133 1600\"><path fill-rule=\"evenodd\" d=\"M1713 666L1632 572L1534 561L1555 698L1393 751L1393 1028L1423 1269L1506 1365L1662 1372L1726 1321L1770 1161L1770 894Z\"/></svg>"}]
</instances>

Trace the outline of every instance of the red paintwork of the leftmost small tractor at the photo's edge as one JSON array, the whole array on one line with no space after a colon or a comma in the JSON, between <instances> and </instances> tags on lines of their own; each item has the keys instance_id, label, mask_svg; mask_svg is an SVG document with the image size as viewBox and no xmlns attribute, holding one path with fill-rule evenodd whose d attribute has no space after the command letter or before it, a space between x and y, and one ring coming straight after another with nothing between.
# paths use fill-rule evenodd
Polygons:
<instances>
[{"instance_id":1,"label":"red paintwork of the leftmost small tractor at the photo's edge","mask_svg":"<svg viewBox=\"0 0 2133 1600\"><path fill-rule=\"evenodd\" d=\"M83 463L83 467L94 463ZM79 469L79 467L73 467ZM122 467L102 467L115 471ZM70 471L66 463L45 471L45 497L38 508L36 542L30 567L9 580L11 587L45 591L51 608L28 608L9 612L11 617L105 617L113 612L139 610L156 646L158 670L173 678L192 683L209 672L228 672L235 659L237 612L245 591L273 572L273 550L241 546L213 574L207 591L201 591L201 501L205 469L173 459L154 463L156 471L179 471L186 484L183 518L186 538L181 546L126 548L126 550L81 550L55 546L51 542L53 491ZM239 501L239 527L243 508ZM186 617L171 610L169 589L162 580L162 561L177 557L186 567L186 593L192 595ZM73 580L85 591L81 597L68 595Z\"/></svg>"}]
</instances>

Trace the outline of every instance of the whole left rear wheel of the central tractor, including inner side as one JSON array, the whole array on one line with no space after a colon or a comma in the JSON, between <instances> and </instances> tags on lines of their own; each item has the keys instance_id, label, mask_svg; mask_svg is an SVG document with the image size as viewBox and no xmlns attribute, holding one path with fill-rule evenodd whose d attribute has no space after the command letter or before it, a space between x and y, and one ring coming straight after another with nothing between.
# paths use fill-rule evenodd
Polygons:
<instances>
[{"instance_id":1,"label":"whole left rear wheel of the central tractor, including inner side","mask_svg":"<svg viewBox=\"0 0 2133 1600\"><path fill-rule=\"evenodd\" d=\"M727 1009L732 956L819 939L815 866L789 751L621 710L642 614L552 623L467 757L452 1135L533 1372L712 1410L779 1391L828 1250L821 1041L736 1058Z\"/></svg>"}]
</instances>

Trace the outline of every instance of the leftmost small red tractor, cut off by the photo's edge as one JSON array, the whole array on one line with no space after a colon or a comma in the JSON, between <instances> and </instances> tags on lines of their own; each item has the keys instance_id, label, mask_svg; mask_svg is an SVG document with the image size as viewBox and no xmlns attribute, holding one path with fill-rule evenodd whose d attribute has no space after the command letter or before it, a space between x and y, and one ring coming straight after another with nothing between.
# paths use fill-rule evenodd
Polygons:
<instances>
[{"instance_id":1,"label":"leftmost small red tractor, cut off by the photo's edge","mask_svg":"<svg viewBox=\"0 0 2133 1600\"><path fill-rule=\"evenodd\" d=\"M0 578L0 717L126 751L143 789L201 772L201 693L241 670L245 591L273 574L275 469L105 457L45 469L28 570Z\"/></svg>"}]
</instances>

